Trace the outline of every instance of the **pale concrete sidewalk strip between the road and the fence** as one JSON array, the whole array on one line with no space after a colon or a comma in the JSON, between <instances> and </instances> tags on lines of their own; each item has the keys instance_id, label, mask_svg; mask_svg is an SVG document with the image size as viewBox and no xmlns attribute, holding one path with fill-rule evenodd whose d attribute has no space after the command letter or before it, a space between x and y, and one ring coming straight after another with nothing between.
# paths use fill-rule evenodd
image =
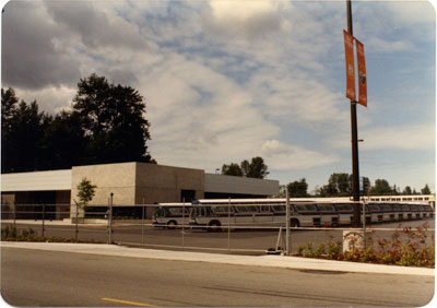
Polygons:
<instances>
[{"instance_id":1,"label":"pale concrete sidewalk strip between the road and the fence","mask_svg":"<svg viewBox=\"0 0 437 308\"><path fill-rule=\"evenodd\" d=\"M129 248L105 244L60 244L60 242L1 242L1 247L19 249L36 249L48 251L88 253L113 257L130 257L143 259L210 262L233 265L271 266L307 271L332 271L349 273L401 274L434 276L434 269L408 268L398 265L382 265L331 261L321 259L286 257L286 256L234 256L204 252L169 251L142 248ZM317 272L316 272L317 273Z\"/></svg>"}]
</instances>

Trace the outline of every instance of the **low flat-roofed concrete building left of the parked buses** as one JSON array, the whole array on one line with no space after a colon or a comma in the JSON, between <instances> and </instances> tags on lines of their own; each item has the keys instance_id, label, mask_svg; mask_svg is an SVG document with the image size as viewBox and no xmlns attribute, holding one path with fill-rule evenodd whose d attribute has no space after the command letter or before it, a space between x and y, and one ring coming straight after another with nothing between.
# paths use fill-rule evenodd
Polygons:
<instances>
[{"instance_id":1,"label":"low flat-roofed concrete building left of the parked buses","mask_svg":"<svg viewBox=\"0 0 437 308\"><path fill-rule=\"evenodd\" d=\"M33 211L51 213L54 220L74 216L76 187L84 178L97 186L88 203L92 208L107 206L110 193L114 206L132 206L204 198L263 198L277 194L280 186L277 180L205 174L193 168L145 163L102 164L1 175L2 210L10 213L15 204L22 208L28 204ZM151 211L146 216L151 216ZM35 214L25 216L33 217Z\"/></svg>"}]
</instances>

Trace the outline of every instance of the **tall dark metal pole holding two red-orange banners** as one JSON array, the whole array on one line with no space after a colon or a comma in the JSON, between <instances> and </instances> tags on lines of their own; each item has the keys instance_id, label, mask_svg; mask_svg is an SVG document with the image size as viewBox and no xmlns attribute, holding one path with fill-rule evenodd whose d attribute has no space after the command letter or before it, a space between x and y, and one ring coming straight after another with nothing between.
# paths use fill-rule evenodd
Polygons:
<instances>
[{"instance_id":1,"label":"tall dark metal pole holding two red-orange banners","mask_svg":"<svg viewBox=\"0 0 437 308\"><path fill-rule=\"evenodd\" d=\"M353 37L352 4L346 1L347 32ZM359 165L358 165L358 129L356 121L356 102L351 99L351 132L352 132L352 191L354 198L353 226L359 227Z\"/></svg>"}]
</instances>

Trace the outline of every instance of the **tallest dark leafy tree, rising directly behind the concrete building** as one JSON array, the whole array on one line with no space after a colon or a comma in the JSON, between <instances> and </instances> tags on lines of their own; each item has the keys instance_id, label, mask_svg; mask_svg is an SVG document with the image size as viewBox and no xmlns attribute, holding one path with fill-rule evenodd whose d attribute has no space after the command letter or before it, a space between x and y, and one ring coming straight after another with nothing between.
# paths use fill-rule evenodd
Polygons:
<instances>
[{"instance_id":1,"label":"tallest dark leafy tree, rising directly behind the concrete building","mask_svg":"<svg viewBox=\"0 0 437 308\"><path fill-rule=\"evenodd\" d=\"M92 74L78 84L72 108L88 139L85 163L151 161L145 144L151 139L150 123L143 117L145 104L138 91Z\"/></svg>"}]
</instances>

